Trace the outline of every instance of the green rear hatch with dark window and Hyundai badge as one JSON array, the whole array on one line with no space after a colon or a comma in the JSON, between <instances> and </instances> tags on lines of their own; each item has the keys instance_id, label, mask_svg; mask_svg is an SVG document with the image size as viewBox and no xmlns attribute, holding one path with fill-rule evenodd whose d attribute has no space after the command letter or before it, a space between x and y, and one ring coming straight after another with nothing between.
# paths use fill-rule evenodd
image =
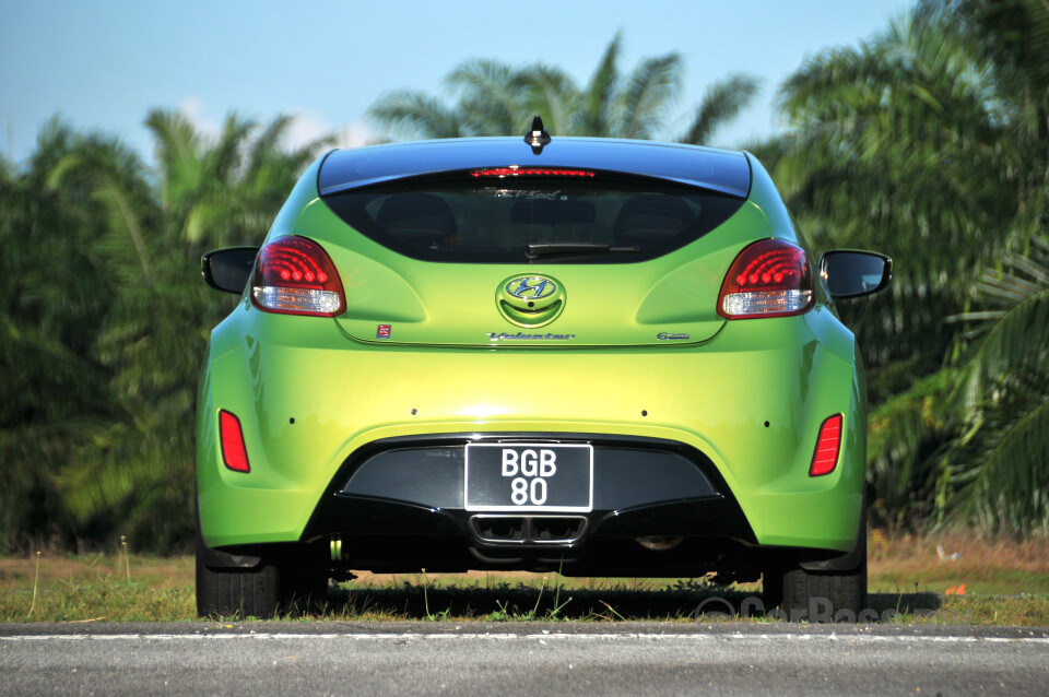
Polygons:
<instances>
[{"instance_id":1,"label":"green rear hatch with dark window and Hyundai badge","mask_svg":"<svg viewBox=\"0 0 1049 697\"><path fill-rule=\"evenodd\" d=\"M297 228L331 256L346 294L337 321L364 342L702 342L724 321L717 300L735 255L768 235L745 194L584 167L331 189Z\"/></svg>"}]
</instances>

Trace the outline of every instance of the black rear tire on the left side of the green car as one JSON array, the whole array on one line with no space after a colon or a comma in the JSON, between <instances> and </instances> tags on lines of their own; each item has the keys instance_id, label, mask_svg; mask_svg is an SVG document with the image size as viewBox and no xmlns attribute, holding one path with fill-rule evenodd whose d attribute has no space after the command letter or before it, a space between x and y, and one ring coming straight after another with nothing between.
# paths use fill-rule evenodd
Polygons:
<instances>
[{"instance_id":1,"label":"black rear tire on the left side of the green car","mask_svg":"<svg viewBox=\"0 0 1049 697\"><path fill-rule=\"evenodd\" d=\"M197 614L201 617L272 617L280 601L279 567L262 562L247 569L213 569L198 548Z\"/></svg>"}]
</instances>

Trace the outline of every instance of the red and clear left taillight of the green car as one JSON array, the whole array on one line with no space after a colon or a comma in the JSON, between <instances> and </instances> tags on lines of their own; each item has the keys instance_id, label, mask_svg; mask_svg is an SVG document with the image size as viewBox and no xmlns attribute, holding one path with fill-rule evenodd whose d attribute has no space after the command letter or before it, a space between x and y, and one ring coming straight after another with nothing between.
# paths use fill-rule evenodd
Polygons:
<instances>
[{"instance_id":1,"label":"red and clear left taillight of the green car","mask_svg":"<svg viewBox=\"0 0 1049 697\"><path fill-rule=\"evenodd\" d=\"M328 252L294 235L279 237L259 251L251 302L261 310L286 315L334 317L346 309L342 281Z\"/></svg>"}]
</instances>

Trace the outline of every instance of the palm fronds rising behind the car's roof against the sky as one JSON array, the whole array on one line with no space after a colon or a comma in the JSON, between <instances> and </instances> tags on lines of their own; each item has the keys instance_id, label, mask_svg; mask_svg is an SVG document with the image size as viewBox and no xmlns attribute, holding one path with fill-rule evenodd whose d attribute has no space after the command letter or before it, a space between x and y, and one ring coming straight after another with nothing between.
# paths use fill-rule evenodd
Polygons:
<instances>
[{"instance_id":1,"label":"palm fronds rising behind the car's roof against the sky","mask_svg":"<svg viewBox=\"0 0 1049 697\"><path fill-rule=\"evenodd\" d=\"M382 128L409 138L515 135L532 114L561 135L651 139L662 129L681 93L681 55L643 59L627 75L618 70L622 36L616 35L586 85L556 67L512 68L492 59L461 63L445 79L457 102L414 90L382 95L368 115ZM756 78L736 74L708 88L682 142L704 144L757 93Z\"/></svg>"}]
</instances>

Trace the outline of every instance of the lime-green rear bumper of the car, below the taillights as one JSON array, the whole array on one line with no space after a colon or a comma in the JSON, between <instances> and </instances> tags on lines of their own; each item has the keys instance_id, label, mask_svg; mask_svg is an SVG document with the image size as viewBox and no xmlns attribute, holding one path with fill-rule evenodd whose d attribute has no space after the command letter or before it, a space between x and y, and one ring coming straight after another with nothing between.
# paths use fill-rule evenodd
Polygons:
<instances>
[{"instance_id":1,"label":"lime-green rear bumper of the car, below the taillights","mask_svg":"<svg viewBox=\"0 0 1049 697\"><path fill-rule=\"evenodd\" d=\"M461 484L447 484L457 465L441 476L389 475L412 481L410 493L384 492L381 476L351 485L353 475L396 439L461 445L522 434L646 441L649 451L686 453L707 482L700 491L671 479L675 496L632 500L650 480L645 468L621 468L610 484L617 493L594 500L573 548L656 535L827 554L854 544L863 395L851 335L824 309L729 322L702 345L638 350L372 346L334 322L258 315L238 310L215 330L202 376L198 485L210 547L338 534L347 548L374 542L375 554L391 557L400 543L405 555L438 543L483 550L456 505ZM250 473L222 464L220 409L241 421ZM836 413L845 417L838 465L810 477L818 426ZM615 482L613 470L596 476Z\"/></svg>"}]
</instances>

